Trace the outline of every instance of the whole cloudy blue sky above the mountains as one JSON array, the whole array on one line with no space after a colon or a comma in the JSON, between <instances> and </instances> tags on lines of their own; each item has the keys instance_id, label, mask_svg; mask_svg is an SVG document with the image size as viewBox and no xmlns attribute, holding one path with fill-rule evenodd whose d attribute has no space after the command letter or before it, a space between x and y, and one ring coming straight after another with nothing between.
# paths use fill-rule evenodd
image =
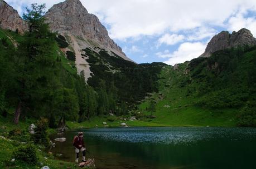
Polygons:
<instances>
[{"instance_id":1,"label":"whole cloudy blue sky above the mountains","mask_svg":"<svg viewBox=\"0 0 256 169\"><path fill-rule=\"evenodd\" d=\"M22 14L33 2L47 8L59 0L6 0ZM81 0L109 36L137 63L182 63L202 54L220 31L248 28L256 37L255 0Z\"/></svg>"}]
</instances>

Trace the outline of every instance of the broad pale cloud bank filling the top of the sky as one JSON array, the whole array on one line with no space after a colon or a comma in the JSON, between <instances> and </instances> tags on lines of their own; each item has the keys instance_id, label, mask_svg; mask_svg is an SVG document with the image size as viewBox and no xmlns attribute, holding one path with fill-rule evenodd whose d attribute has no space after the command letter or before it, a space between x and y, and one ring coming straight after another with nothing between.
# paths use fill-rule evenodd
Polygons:
<instances>
[{"instance_id":1,"label":"broad pale cloud bank filling the top of the sky","mask_svg":"<svg viewBox=\"0 0 256 169\"><path fill-rule=\"evenodd\" d=\"M140 35L161 36L197 27L225 26L238 11L255 8L255 0L82 0L91 13L103 14L110 25L110 37L125 39ZM206 35L205 35L206 36ZM190 37L204 38L203 36Z\"/></svg>"}]
</instances>

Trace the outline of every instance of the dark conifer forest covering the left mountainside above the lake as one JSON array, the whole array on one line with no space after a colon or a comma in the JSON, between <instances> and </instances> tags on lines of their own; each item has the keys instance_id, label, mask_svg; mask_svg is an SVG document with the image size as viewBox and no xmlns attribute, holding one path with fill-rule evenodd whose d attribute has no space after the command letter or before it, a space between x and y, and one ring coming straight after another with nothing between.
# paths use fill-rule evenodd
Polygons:
<instances>
[{"instance_id":1,"label":"dark conifer forest covering the left mountainside above the lake","mask_svg":"<svg viewBox=\"0 0 256 169\"><path fill-rule=\"evenodd\" d=\"M0 42L0 110L3 116L15 112L20 117L45 117L50 127L64 126L66 120L85 121L108 114L125 115L148 92L157 91L157 73L162 64L135 64L103 49L89 55L93 77L85 82L83 72L74 73L59 47L68 46L65 38L51 33L45 23L45 5L27 9L23 19L29 31L23 35L1 30ZM74 61L72 52L67 59ZM112 64L115 71L97 62ZM99 62L100 62L99 61ZM75 71L76 72L76 71Z\"/></svg>"}]
</instances>

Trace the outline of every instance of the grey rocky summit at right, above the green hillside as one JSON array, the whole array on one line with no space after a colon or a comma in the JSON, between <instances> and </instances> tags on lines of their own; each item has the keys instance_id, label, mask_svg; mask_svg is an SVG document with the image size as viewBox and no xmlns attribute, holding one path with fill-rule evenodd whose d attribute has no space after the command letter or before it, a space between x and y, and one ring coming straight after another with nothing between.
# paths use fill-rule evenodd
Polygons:
<instances>
[{"instance_id":1,"label":"grey rocky summit at right, above the green hillside","mask_svg":"<svg viewBox=\"0 0 256 169\"><path fill-rule=\"evenodd\" d=\"M243 28L232 34L228 31L222 31L211 39L200 57L210 57L211 53L216 51L245 45L256 45L256 39L248 29Z\"/></svg>"}]
</instances>

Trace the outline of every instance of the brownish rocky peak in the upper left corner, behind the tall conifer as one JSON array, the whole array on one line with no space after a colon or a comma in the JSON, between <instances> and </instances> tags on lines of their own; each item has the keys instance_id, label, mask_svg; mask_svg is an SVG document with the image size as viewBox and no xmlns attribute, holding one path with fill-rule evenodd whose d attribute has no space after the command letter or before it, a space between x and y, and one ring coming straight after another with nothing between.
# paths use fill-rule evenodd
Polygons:
<instances>
[{"instance_id":1,"label":"brownish rocky peak in the upper left corner, behind the tall conifer","mask_svg":"<svg viewBox=\"0 0 256 169\"><path fill-rule=\"evenodd\" d=\"M6 2L0 0L0 27L11 31L25 32L27 25L18 12Z\"/></svg>"}]
</instances>

